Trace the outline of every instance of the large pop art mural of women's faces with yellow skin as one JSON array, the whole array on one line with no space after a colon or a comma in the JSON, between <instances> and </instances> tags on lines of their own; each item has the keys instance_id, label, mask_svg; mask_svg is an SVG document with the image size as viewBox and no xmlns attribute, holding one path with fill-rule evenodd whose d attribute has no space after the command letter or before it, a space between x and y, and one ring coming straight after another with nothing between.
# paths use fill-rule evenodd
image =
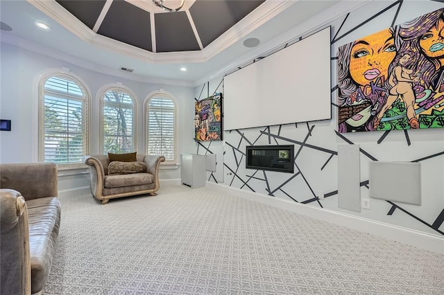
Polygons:
<instances>
[{"instance_id":1,"label":"large pop art mural of women's faces with yellow skin","mask_svg":"<svg viewBox=\"0 0 444 295\"><path fill-rule=\"evenodd\" d=\"M444 8L339 47L338 131L444 127Z\"/></svg>"}]
</instances>

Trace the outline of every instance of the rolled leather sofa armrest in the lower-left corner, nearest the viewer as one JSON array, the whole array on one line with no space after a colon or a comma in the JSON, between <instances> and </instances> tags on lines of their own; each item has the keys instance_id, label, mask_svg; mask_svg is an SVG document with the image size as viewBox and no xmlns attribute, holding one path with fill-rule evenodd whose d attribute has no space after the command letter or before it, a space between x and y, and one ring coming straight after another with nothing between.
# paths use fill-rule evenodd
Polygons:
<instances>
[{"instance_id":1,"label":"rolled leather sofa armrest in the lower-left corner, nearest the viewer","mask_svg":"<svg viewBox=\"0 0 444 295\"><path fill-rule=\"evenodd\" d=\"M17 190L0 189L1 294L31 294L28 208Z\"/></svg>"}]
</instances>

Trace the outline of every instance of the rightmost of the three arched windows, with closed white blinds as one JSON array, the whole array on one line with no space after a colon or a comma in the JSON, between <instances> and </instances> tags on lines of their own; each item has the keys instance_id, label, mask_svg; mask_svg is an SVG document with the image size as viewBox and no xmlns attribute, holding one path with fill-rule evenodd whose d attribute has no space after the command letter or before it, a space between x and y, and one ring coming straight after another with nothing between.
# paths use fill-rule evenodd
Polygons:
<instances>
[{"instance_id":1,"label":"rightmost of the three arched windows, with closed white blinds","mask_svg":"<svg viewBox=\"0 0 444 295\"><path fill-rule=\"evenodd\" d=\"M161 154L166 164L176 164L176 102L165 93L146 102L146 154Z\"/></svg>"}]
</instances>

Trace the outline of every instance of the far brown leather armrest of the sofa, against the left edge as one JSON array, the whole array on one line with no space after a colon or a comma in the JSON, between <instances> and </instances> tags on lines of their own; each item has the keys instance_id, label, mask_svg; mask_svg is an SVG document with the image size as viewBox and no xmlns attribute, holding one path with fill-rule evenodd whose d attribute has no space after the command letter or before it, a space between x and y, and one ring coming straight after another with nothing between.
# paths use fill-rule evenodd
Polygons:
<instances>
[{"instance_id":1,"label":"far brown leather armrest of the sofa, against the left edge","mask_svg":"<svg viewBox=\"0 0 444 295\"><path fill-rule=\"evenodd\" d=\"M56 163L0 164L0 188L18 190L25 200L58 195Z\"/></svg>"}]
</instances>

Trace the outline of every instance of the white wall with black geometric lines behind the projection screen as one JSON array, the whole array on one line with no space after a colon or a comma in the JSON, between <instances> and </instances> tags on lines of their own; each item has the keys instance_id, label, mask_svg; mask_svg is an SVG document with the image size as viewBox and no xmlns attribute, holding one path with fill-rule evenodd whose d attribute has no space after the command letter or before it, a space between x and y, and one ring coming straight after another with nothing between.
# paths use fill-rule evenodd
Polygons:
<instances>
[{"instance_id":1,"label":"white wall with black geometric lines behind the projection screen","mask_svg":"<svg viewBox=\"0 0 444 295\"><path fill-rule=\"evenodd\" d=\"M395 1L373 1L352 11L341 28L341 24L345 19L345 15L332 15L332 37L341 31L338 36L352 30L366 19L370 19L373 15L384 10ZM413 19L419 15L431 12L443 6L442 3L434 1L404 1L399 10L399 15L395 20L395 24L400 24L409 19ZM396 15L398 6L387 10L381 15L375 17L367 24L360 26L346 37L343 37L338 42L332 45L332 57L336 56L339 46L352 42L359 37L364 37L375 33L384 28L391 26L393 18ZM325 15L329 15L326 11ZM318 24L325 24L324 17L318 19ZM311 21L314 21L311 19ZM328 23L328 21L327 21ZM291 32L286 33L291 38L299 37L312 30L312 27L307 27L302 24L298 28L294 28ZM293 35L292 35L293 32ZM265 44L264 46L269 46ZM275 44L278 46L280 44ZM241 59L239 59L241 60ZM252 58L253 60L253 58ZM336 60L332 60L332 87L337 84L336 80ZM223 78L219 77L214 80L207 81L205 84L204 93L207 91L210 94L216 91ZM195 96L198 96L202 85L194 89ZM223 85L217 90L223 92ZM336 102L337 91L332 92L332 102ZM204 98L201 97L201 98ZM275 98L273 98L275 99ZM307 100L307 106L310 101ZM289 105L288 107L303 108L305 105ZM278 116L278 114L269 114L270 116ZM190 120L193 114L188 115ZM212 150L215 147L224 145L225 155L224 163L224 181L219 184L229 186L231 188L241 188L248 192L254 191L268 195L268 189L273 191L280 188L282 184L288 181L293 175L280 172L262 172L245 169L245 146L254 143L255 145L268 144L294 144L295 153L300 152L296 159L298 169L295 171L301 174L291 179L287 184L284 184L281 189L276 190L272 195L278 199L289 200L291 202L306 202L307 206L315 206L334 211L337 213L347 213L356 215L369 220L385 222L395 226L402 226L407 229L420 231L431 235L443 237L444 225L439 226L438 231L432 229L431 224L435 222L438 216L444 210L444 154L432 159L420 161L422 166L422 204L420 206L400 204L397 203L404 211L399 208L393 212L393 215L388 215L391 209L391 204L384 200L370 199L370 210L361 209L361 212L349 211L338 207L338 195L334 193L338 189L337 178L337 156L334 155L331 159L329 151L336 152L339 144L347 144L347 142L338 136L335 132L336 128L337 108L332 105L332 120L322 120L310 123L298 123L288 125L270 126L238 129L223 133L224 142L196 143L194 151L199 154L207 152L205 148ZM311 133L309 132L309 129ZM268 137L264 132L272 134ZM358 144L362 150L370 154L371 157L379 161L413 161L421 159L432 154L442 153L444 151L444 129L418 129L409 130L407 132L411 145L408 145L406 136L403 131L392 131L381 142L377 141L382 137L384 132L359 132L354 134L343 134L343 137ZM275 137L278 136L278 137ZM301 143L307 143L303 145ZM238 149L239 147L239 149ZM361 181L368 180L368 163L371 161L369 157L361 152ZM329 161L330 159L330 161ZM219 168L221 168L219 166ZM231 174L230 174L231 173ZM252 178L252 176L254 177ZM209 178L210 182L215 182ZM331 197L326 197L319 202L311 202L318 193L332 193ZM361 186L361 197L368 198L368 188ZM428 224L428 225L427 225ZM441 231L441 233L439 232Z\"/></svg>"}]
</instances>

